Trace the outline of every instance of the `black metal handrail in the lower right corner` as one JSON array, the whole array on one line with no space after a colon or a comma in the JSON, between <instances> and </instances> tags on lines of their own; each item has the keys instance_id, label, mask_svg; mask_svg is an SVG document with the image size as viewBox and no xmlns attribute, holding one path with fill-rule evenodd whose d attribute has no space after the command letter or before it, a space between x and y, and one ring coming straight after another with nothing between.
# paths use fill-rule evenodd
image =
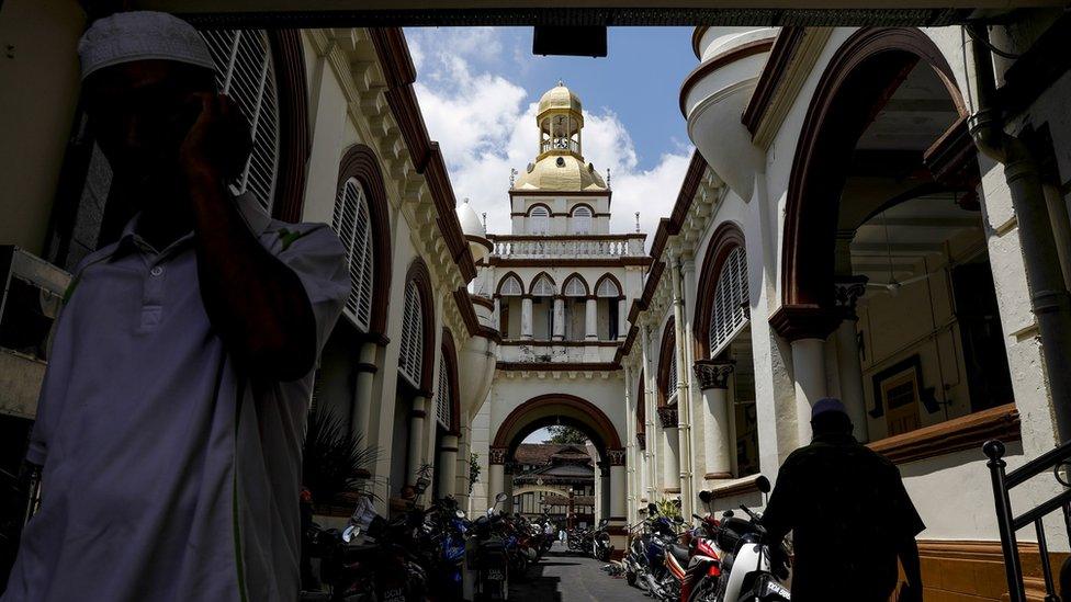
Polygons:
<instances>
[{"instance_id":1,"label":"black metal handrail in the lower right corner","mask_svg":"<svg viewBox=\"0 0 1071 602\"><path fill-rule=\"evenodd\" d=\"M1001 552L1004 555L1004 575L1007 578L1008 602L1026 602L1026 588L1023 582L1023 563L1019 559L1018 543L1015 532L1033 523L1038 541L1038 553L1041 556L1041 576L1045 580L1045 602L1060 602L1052 578L1052 564L1049 558L1049 546L1045 537L1044 519L1051 512L1063 510L1063 526L1071 536L1071 488L1041 502L1016 516L1012 511L1010 491L1022 485L1030 477L1052 469L1057 481L1068 486L1060 479L1059 468L1068 464L1071 458L1071 442L1046 452L1023 466L1005 473L1007 463L1004 462L1006 448L1000 441L987 441L982 452L989 456L987 466L993 481L993 500L996 506L996 526L1001 533Z\"/></svg>"}]
</instances>

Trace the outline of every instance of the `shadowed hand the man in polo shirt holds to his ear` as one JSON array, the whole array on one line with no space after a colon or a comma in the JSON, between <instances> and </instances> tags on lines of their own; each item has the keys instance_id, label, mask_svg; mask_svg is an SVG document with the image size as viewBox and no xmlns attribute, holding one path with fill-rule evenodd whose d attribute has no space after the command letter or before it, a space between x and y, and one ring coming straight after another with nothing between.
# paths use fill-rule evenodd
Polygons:
<instances>
[{"instance_id":1,"label":"shadowed hand the man in polo shirt holds to his ear","mask_svg":"<svg viewBox=\"0 0 1071 602\"><path fill-rule=\"evenodd\" d=\"M179 148L185 177L210 173L223 181L241 175L252 150L249 123L228 96L200 92L190 96L196 120Z\"/></svg>"}]
</instances>

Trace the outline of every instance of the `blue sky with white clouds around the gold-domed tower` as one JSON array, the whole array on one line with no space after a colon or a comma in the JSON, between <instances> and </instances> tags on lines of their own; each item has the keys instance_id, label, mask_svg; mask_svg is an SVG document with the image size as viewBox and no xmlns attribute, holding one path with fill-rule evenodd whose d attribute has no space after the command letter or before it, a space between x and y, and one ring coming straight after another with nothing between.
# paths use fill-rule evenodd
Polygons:
<instances>
[{"instance_id":1,"label":"blue sky with white clouds around the gold-domed tower","mask_svg":"<svg viewBox=\"0 0 1071 602\"><path fill-rule=\"evenodd\" d=\"M417 96L459 200L509 231L509 170L536 155L534 103L565 81L585 109L584 155L611 169L615 231L653 235L680 188L691 145L678 109L698 60L690 27L615 27L607 58L531 54L531 27L407 29ZM650 242L650 240L649 240Z\"/></svg>"}]
</instances>

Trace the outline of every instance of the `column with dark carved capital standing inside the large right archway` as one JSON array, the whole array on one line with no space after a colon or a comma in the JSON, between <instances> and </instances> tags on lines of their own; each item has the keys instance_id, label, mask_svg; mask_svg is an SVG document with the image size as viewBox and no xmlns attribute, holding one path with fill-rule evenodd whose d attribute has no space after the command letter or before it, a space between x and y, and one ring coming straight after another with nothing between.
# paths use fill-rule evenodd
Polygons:
<instances>
[{"instance_id":1,"label":"column with dark carved capital standing inside the large right archway","mask_svg":"<svg viewBox=\"0 0 1071 602\"><path fill-rule=\"evenodd\" d=\"M841 401L852 419L852 434L861 442L869 440L867 432L867 402L863 393L863 361L859 360L859 339L856 322L859 316L855 307L859 297L866 293L866 276L853 276L835 283L837 304L844 310L844 320L836 329L837 368L841 385Z\"/></svg>"}]
</instances>

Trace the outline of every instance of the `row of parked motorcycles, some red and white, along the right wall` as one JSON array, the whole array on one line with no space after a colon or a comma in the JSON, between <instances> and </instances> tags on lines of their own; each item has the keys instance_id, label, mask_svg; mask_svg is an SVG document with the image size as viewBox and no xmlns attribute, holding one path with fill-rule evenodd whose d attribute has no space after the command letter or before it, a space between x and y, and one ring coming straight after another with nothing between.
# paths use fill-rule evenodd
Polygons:
<instances>
[{"instance_id":1,"label":"row of parked motorcycles, some red and white, along the right wall","mask_svg":"<svg viewBox=\"0 0 1071 602\"><path fill-rule=\"evenodd\" d=\"M770 484L759 477L764 493ZM709 491L699 498L710 509ZM630 586L662 602L788 602L791 569L783 543L773 547L763 516L744 504L715 518L692 514L686 525L647 506L647 516L630 527L624 576Z\"/></svg>"}]
</instances>

